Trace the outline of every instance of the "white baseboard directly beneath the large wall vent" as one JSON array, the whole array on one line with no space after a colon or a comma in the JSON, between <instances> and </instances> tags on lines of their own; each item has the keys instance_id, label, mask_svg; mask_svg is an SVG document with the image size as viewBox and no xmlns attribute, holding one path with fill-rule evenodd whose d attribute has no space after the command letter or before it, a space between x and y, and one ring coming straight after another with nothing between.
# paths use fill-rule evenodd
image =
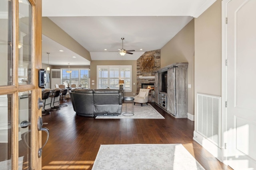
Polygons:
<instances>
[{"instance_id":1,"label":"white baseboard directly beneath the large wall vent","mask_svg":"<svg viewBox=\"0 0 256 170\"><path fill-rule=\"evenodd\" d=\"M221 161L221 149L210 142L208 139L194 131L194 141L199 143L202 147L204 147L208 152L210 152L215 158Z\"/></svg>"}]
</instances>

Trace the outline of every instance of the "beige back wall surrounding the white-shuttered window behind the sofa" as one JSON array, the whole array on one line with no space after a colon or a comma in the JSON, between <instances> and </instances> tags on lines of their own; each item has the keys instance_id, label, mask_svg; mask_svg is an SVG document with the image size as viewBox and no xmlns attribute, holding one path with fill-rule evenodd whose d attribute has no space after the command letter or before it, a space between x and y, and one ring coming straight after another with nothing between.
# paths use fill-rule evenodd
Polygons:
<instances>
[{"instance_id":1,"label":"beige back wall surrounding the white-shuttered window behind the sofa","mask_svg":"<svg viewBox=\"0 0 256 170\"><path fill-rule=\"evenodd\" d=\"M137 84L137 61L136 60L93 60L90 65L91 71L91 89L97 89L97 65L131 65L132 66L132 92L125 92L124 96L134 96L136 94ZM94 80L94 85L92 85ZM135 85L133 85L135 84Z\"/></svg>"}]
</instances>

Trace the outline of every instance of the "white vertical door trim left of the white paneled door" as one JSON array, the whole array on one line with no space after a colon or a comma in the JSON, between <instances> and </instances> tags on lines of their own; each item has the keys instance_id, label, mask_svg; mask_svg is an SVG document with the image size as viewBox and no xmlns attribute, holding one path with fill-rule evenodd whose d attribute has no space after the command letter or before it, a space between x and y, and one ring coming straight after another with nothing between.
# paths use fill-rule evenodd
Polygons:
<instances>
[{"instance_id":1,"label":"white vertical door trim left of the white paneled door","mask_svg":"<svg viewBox=\"0 0 256 170\"><path fill-rule=\"evenodd\" d=\"M227 55L227 27L226 24L226 17L228 17L228 2L231 0L222 0L222 104L221 104L221 150L222 150L222 157L221 161L226 164L226 151L225 151L225 143L227 137L224 135L225 131L227 131L226 123L226 101L227 101L227 66L226 60L228 59Z\"/></svg>"}]
</instances>

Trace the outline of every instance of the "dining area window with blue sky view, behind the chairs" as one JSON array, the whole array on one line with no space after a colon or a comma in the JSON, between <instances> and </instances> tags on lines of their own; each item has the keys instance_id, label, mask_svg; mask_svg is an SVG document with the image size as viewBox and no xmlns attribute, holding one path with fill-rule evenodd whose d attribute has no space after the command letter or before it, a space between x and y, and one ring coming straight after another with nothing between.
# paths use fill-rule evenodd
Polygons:
<instances>
[{"instance_id":1,"label":"dining area window with blue sky view, behind the chairs","mask_svg":"<svg viewBox=\"0 0 256 170\"><path fill-rule=\"evenodd\" d=\"M67 73L62 69L62 84L76 84L76 87L81 85L83 88L90 88L90 69L70 69L71 73Z\"/></svg>"}]
</instances>

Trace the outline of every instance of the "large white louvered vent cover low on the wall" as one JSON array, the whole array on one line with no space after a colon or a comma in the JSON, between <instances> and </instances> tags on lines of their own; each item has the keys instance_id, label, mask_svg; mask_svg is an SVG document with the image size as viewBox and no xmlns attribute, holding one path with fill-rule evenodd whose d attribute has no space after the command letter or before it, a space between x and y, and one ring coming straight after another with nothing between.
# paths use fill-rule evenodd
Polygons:
<instances>
[{"instance_id":1,"label":"large white louvered vent cover low on the wall","mask_svg":"<svg viewBox=\"0 0 256 170\"><path fill-rule=\"evenodd\" d=\"M197 94L197 132L220 147L221 98Z\"/></svg>"}]
</instances>

